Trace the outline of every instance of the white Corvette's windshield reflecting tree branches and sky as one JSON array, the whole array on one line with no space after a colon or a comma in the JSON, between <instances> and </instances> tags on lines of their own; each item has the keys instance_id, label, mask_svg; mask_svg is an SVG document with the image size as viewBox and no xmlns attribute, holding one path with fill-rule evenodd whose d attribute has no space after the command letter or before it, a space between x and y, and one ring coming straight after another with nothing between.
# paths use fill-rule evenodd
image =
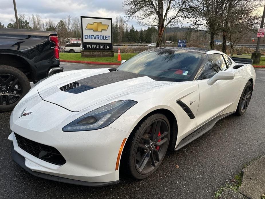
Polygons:
<instances>
[{"instance_id":1,"label":"white Corvette's windshield reflecting tree branches and sky","mask_svg":"<svg viewBox=\"0 0 265 199\"><path fill-rule=\"evenodd\" d=\"M132 57L117 70L152 76L160 81L190 81L204 56L199 52L155 48Z\"/></svg>"}]
</instances>

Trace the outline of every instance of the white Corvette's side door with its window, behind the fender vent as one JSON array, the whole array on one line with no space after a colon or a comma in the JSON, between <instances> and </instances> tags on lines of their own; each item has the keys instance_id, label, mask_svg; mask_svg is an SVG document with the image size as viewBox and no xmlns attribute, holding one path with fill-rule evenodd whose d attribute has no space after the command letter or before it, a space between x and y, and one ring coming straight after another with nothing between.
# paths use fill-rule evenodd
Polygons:
<instances>
[{"instance_id":1,"label":"white Corvette's side door with its window, behind the fender vent","mask_svg":"<svg viewBox=\"0 0 265 199\"><path fill-rule=\"evenodd\" d=\"M227 69L227 63L222 54L210 54L205 63L199 85L199 107L196 116L197 126L222 114L237 97L239 75L235 75L233 80L218 80L213 85L208 85L207 81L220 71Z\"/></svg>"}]
</instances>

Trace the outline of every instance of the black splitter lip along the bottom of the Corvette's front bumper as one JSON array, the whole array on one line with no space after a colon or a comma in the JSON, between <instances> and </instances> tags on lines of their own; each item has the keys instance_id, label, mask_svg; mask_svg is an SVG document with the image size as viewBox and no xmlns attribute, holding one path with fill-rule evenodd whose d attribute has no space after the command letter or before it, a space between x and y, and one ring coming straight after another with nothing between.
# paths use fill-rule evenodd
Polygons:
<instances>
[{"instance_id":1,"label":"black splitter lip along the bottom of the Corvette's front bumper","mask_svg":"<svg viewBox=\"0 0 265 199\"><path fill-rule=\"evenodd\" d=\"M44 178L44 179L53 180L53 181L57 181L57 182L64 182L64 183L69 183L69 184L90 186L90 187L101 187L101 186L107 186L107 185L119 183L119 180L112 181L112 182L86 182L86 181L72 180L72 179L68 179L68 178L64 178L64 177L58 177L58 176L55 176L55 175L49 175L49 174L45 174L45 173L32 171L28 167L26 167L25 158L15 151L14 146L13 146L12 143L11 143L11 153L12 153L13 160L19 166L21 166L23 169L28 171L30 174L35 175L37 177Z\"/></svg>"}]
</instances>

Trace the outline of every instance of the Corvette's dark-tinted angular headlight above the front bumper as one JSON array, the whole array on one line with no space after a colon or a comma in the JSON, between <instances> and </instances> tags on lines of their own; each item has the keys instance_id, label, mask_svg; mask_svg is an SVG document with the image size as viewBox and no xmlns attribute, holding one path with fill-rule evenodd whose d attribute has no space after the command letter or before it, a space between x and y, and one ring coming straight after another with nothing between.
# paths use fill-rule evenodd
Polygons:
<instances>
[{"instance_id":1,"label":"Corvette's dark-tinted angular headlight above the front bumper","mask_svg":"<svg viewBox=\"0 0 265 199\"><path fill-rule=\"evenodd\" d=\"M101 106L77 118L62 128L63 131L96 130L108 126L129 108L137 104L133 100L120 100Z\"/></svg>"}]
</instances>

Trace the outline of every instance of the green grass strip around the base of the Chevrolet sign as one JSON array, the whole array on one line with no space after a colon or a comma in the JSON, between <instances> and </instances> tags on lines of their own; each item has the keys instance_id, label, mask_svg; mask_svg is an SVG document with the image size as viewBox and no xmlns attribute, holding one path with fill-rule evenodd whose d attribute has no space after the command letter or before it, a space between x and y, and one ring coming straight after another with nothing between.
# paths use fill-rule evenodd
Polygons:
<instances>
[{"instance_id":1,"label":"green grass strip around the base of the Chevrolet sign","mask_svg":"<svg viewBox=\"0 0 265 199\"><path fill-rule=\"evenodd\" d=\"M135 56L137 53L121 53L122 60L128 60L129 58ZM81 57L81 53L60 53L60 59L64 60L74 60L74 61L97 61L97 62L117 62L118 53L114 54L114 57Z\"/></svg>"}]
</instances>

